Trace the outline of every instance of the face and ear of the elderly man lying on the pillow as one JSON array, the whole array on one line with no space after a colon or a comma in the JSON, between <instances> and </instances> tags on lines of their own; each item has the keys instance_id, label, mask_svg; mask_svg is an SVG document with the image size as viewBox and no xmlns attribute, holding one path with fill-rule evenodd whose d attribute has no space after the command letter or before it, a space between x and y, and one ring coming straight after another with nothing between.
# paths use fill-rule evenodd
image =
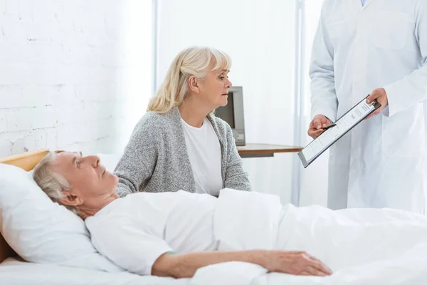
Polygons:
<instances>
[{"instance_id":1,"label":"face and ear of the elderly man lying on the pillow","mask_svg":"<svg viewBox=\"0 0 427 285\"><path fill-rule=\"evenodd\" d=\"M100 165L97 156L83 157L81 152L60 152L53 163L54 170L70 183L71 190L64 191L65 204L100 207L105 199L115 194L118 177Z\"/></svg>"}]
</instances>

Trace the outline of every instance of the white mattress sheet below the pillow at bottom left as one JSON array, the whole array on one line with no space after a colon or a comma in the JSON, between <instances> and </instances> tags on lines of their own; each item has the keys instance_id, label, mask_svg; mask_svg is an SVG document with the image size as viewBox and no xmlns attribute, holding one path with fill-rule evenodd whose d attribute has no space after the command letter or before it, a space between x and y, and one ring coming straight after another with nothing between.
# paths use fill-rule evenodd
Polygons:
<instances>
[{"instance_id":1,"label":"white mattress sheet below the pillow at bottom left","mask_svg":"<svg viewBox=\"0 0 427 285\"><path fill-rule=\"evenodd\" d=\"M139 276L129 272L108 273L88 269L33 264L9 258L0 264L0 285L187 285L189 279Z\"/></svg>"}]
</instances>

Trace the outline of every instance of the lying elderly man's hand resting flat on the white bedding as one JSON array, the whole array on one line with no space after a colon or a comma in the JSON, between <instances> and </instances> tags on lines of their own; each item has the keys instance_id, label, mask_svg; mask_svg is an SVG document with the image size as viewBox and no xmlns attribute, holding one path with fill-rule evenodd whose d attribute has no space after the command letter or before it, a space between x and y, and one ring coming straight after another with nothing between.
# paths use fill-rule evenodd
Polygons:
<instances>
[{"instance_id":1,"label":"lying elderly man's hand resting flat on the white bedding","mask_svg":"<svg viewBox=\"0 0 427 285\"><path fill-rule=\"evenodd\" d=\"M327 276L332 274L332 270L322 261L306 252L271 251L265 268L268 271L294 275Z\"/></svg>"}]
</instances>

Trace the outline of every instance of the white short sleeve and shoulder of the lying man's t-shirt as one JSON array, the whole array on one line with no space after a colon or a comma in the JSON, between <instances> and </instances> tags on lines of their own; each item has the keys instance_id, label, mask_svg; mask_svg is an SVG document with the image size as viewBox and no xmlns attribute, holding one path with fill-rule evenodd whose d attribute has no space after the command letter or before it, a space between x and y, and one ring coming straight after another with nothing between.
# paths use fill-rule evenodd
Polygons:
<instances>
[{"instance_id":1,"label":"white short sleeve and shoulder of the lying man's t-shirt","mask_svg":"<svg viewBox=\"0 0 427 285\"><path fill-rule=\"evenodd\" d=\"M89 217L85 224L95 249L122 269L151 275L157 258L172 252L164 239L157 237L142 221L105 217Z\"/></svg>"}]
</instances>

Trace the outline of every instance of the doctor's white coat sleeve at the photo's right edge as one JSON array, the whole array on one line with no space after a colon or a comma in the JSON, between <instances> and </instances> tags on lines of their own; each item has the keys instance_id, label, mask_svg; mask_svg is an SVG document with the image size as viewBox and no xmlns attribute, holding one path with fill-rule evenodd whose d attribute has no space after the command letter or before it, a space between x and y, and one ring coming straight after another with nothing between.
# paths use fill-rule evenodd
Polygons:
<instances>
[{"instance_id":1,"label":"doctor's white coat sleeve at the photo's right edge","mask_svg":"<svg viewBox=\"0 0 427 285\"><path fill-rule=\"evenodd\" d=\"M427 99L427 4L418 1L416 7L415 36L423 66L399 81L383 86L389 100L389 110L384 115L392 116Z\"/></svg>"}]
</instances>

